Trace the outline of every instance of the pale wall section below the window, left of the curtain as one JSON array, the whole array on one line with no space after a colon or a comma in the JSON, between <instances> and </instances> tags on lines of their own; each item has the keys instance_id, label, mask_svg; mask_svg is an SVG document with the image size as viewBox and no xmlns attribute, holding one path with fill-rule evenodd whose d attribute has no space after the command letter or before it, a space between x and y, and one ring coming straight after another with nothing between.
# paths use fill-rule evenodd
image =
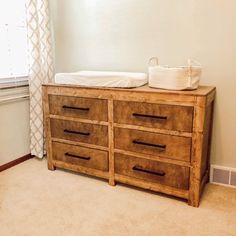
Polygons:
<instances>
[{"instance_id":1,"label":"pale wall section below the window, left of the curtain","mask_svg":"<svg viewBox=\"0 0 236 236\"><path fill-rule=\"evenodd\" d=\"M29 153L29 100L0 103L0 165Z\"/></svg>"}]
</instances>

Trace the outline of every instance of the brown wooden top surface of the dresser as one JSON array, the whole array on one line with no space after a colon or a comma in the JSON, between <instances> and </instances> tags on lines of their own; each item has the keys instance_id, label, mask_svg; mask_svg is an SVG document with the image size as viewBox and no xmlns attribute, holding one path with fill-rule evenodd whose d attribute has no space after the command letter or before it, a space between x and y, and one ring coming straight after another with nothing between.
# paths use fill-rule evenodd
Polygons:
<instances>
[{"instance_id":1,"label":"brown wooden top surface of the dresser","mask_svg":"<svg viewBox=\"0 0 236 236\"><path fill-rule=\"evenodd\" d=\"M105 88L105 87L85 87L78 85L68 85L68 84L56 84L56 83L48 83L43 84L43 86L49 87L66 87L66 88L78 88L78 89L96 89L96 90L112 90L112 91L130 91L130 92L145 92L145 93L162 93L162 94L175 94L175 95L187 95L187 96L206 96L211 92L215 91L214 86L199 86L198 89L195 90L165 90L165 89L156 89L150 88L148 85L144 85L138 88Z\"/></svg>"}]
</instances>

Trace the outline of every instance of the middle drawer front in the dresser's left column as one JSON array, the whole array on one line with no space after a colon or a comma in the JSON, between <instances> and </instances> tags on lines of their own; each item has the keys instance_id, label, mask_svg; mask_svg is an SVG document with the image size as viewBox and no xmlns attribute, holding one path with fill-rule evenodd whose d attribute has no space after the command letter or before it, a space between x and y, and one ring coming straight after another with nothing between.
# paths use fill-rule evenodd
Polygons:
<instances>
[{"instance_id":1,"label":"middle drawer front in the dresser's left column","mask_svg":"<svg viewBox=\"0 0 236 236\"><path fill-rule=\"evenodd\" d=\"M104 125L51 119L51 133L53 138L108 146L108 127Z\"/></svg>"}]
</instances>

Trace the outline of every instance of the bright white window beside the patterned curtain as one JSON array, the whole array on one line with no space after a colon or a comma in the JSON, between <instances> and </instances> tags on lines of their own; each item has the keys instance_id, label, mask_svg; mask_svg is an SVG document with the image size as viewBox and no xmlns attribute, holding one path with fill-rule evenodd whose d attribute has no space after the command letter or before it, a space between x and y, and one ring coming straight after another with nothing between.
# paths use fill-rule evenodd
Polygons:
<instances>
[{"instance_id":1,"label":"bright white window beside the patterned curtain","mask_svg":"<svg viewBox=\"0 0 236 236\"><path fill-rule=\"evenodd\" d=\"M25 0L0 0L0 86L27 80Z\"/></svg>"}]
</instances>

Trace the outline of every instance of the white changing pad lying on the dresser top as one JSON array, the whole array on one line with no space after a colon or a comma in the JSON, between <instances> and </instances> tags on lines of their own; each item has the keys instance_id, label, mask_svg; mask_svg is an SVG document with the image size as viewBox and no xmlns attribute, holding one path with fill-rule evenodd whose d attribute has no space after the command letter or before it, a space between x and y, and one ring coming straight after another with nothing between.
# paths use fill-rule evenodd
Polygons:
<instances>
[{"instance_id":1,"label":"white changing pad lying on the dresser top","mask_svg":"<svg viewBox=\"0 0 236 236\"><path fill-rule=\"evenodd\" d=\"M57 73L55 83L89 87L135 88L148 82L147 74L131 72L79 71Z\"/></svg>"}]
</instances>

